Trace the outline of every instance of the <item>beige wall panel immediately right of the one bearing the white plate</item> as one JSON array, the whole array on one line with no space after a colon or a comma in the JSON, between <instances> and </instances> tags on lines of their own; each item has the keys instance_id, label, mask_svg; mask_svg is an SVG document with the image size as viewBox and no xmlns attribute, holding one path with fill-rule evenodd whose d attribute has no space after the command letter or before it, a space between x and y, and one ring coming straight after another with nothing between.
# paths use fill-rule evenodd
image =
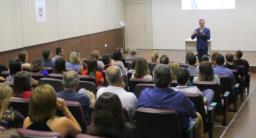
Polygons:
<instances>
[{"instance_id":1,"label":"beige wall panel immediately right of the one bearing the white plate","mask_svg":"<svg viewBox=\"0 0 256 138\"><path fill-rule=\"evenodd\" d=\"M86 34L85 0L57 0L59 40Z\"/></svg>"}]
</instances>

